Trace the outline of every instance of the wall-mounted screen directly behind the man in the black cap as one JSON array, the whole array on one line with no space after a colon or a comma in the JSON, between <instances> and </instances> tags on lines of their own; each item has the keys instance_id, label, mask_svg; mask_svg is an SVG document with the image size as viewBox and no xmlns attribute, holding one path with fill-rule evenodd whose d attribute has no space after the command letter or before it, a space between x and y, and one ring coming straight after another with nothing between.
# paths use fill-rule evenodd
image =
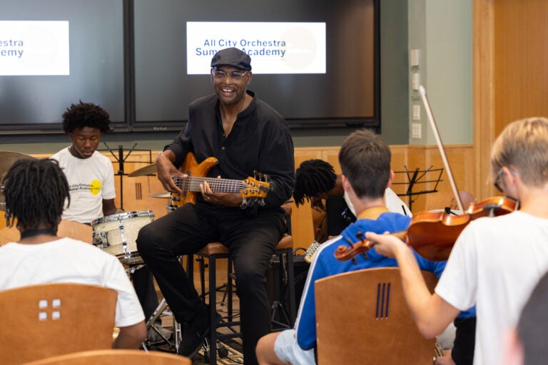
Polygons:
<instances>
[{"instance_id":1,"label":"wall-mounted screen directly behind the man in the black cap","mask_svg":"<svg viewBox=\"0 0 548 365\"><path fill-rule=\"evenodd\" d=\"M378 127L376 0L134 0L134 130L180 129L210 60L251 56L248 87L290 126Z\"/></svg>"}]
</instances>

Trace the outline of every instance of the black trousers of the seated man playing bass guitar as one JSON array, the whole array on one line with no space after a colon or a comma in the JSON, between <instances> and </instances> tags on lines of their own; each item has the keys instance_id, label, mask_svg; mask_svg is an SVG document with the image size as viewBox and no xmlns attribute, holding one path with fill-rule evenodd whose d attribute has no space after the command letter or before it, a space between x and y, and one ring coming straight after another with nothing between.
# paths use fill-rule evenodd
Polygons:
<instances>
[{"instance_id":1,"label":"black trousers of the seated man playing bass guitar","mask_svg":"<svg viewBox=\"0 0 548 365\"><path fill-rule=\"evenodd\" d=\"M208 242L228 247L240 299L245 364L257 363L257 341L270 332L266 272L285 230L283 210L255 212L203 202L186 204L142 227L137 238L138 252L180 323L191 321L204 304L177 257L194 254Z\"/></svg>"}]
</instances>

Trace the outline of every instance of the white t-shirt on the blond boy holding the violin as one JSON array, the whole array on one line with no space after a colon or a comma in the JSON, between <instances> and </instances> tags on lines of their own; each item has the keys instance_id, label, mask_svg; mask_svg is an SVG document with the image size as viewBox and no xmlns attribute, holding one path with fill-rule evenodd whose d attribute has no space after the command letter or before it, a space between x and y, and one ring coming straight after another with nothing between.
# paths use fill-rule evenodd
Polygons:
<instances>
[{"instance_id":1,"label":"white t-shirt on the blond boy holding the violin","mask_svg":"<svg viewBox=\"0 0 548 365\"><path fill-rule=\"evenodd\" d=\"M460 310L476 304L475 365L502 364L502 338L547 271L548 220L515 211L462 231L435 292Z\"/></svg>"}]
</instances>

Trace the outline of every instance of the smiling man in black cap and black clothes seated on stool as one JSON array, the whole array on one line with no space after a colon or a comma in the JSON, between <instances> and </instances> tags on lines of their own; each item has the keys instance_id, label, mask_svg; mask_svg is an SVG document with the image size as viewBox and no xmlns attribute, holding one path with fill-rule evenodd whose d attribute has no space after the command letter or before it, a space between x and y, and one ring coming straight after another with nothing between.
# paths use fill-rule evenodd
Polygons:
<instances>
[{"instance_id":1,"label":"smiling man in black cap and black clothes seated on stool","mask_svg":"<svg viewBox=\"0 0 548 365\"><path fill-rule=\"evenodd\" d=\"M209 331L210 309L178 262L208 242L228 247L240 298L245 364L256 364L255 345L270 331L270 303L265 273L283 233L281 205L293 190L293 141L285 119L249 91L251 59L238 48L225 48L210 66L215 93L191 103L186 127L156 159L158 179L170 192L181 193L173 176L187 153L198 163L216 158L210 178L243 180L254 171L270 177L264 200L247 200L240 192L215 192L201 184L196 204L186 204L141 228L136 240L171 311L183 324L179 354L192 357ZM215 346L215 344L211 344Z\"/></svg>"}]
</instances>

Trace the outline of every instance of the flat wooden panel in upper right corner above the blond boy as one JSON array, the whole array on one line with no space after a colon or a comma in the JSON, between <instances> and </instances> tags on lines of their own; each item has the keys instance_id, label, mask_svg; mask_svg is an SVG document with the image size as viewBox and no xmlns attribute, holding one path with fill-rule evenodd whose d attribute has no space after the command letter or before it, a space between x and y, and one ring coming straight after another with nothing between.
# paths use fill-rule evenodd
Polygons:
<instances>
[{"instance_id":1,"label":"flat wooden panel in upper right corner above the blond boy","mask_svg":"<svg viewBox=\"0 0 548 365\"><path fill-rule=\"evenodd\" d=\"M548 1L494 1L495 134L548 116Z\"/></svg>"}]
</instances>

